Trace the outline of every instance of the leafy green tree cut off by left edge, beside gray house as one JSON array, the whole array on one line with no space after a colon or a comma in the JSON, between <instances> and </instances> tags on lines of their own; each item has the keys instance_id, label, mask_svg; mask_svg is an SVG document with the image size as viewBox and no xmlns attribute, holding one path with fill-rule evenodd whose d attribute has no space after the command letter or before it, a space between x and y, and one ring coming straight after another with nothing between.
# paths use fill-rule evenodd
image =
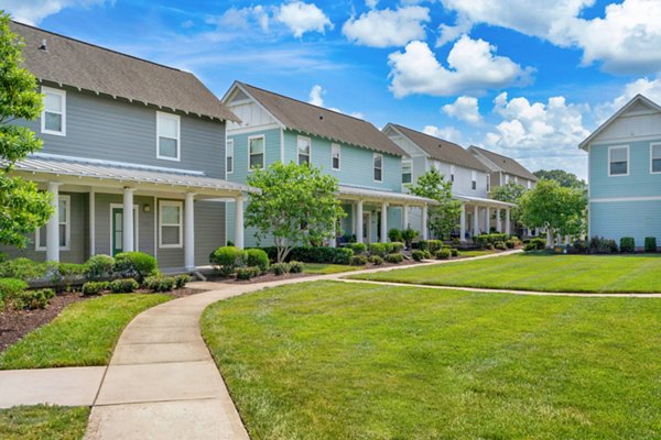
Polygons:
<instances>
[{"instance_id":1,"label":"leafy green tree cut off by left edge, beside gray house","mask_svg":"<svg viewBox=\"0 0 661 440\"><path fill-rule=\"evenodd\" d=\"M0 11L0 243L24 248L28 234L46 223L52 208L50 194L10 175L18 161L42 147L32 131L12 122L39 118L43 97L34 76L21 67L23 43L9 23Z\"/></svg>"}]
</instances>

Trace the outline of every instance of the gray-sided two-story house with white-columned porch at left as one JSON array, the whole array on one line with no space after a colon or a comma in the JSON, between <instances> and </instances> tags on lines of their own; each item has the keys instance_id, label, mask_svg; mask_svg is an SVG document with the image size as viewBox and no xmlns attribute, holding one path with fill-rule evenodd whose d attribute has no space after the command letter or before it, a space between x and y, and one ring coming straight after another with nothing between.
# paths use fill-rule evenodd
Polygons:
<instances>
[{"instance_id":1,"label":"gray-sided two-story house with white-columned porch at left","mask_svg":"<svg viewBox=\"0 0 661 440\"><path fill-rule=\"evenodd\" d=\"M82 263L142 251L161 268L208 264L226 243L226 121L238 118L194 75L29 25L24 65L44 94L44 147L13 173L53 194L54 216L32 244L0 251ZM242 212L237 212L242 221ZM241 243L239 243L241 244Z\"/></svg>"}]
</instances>

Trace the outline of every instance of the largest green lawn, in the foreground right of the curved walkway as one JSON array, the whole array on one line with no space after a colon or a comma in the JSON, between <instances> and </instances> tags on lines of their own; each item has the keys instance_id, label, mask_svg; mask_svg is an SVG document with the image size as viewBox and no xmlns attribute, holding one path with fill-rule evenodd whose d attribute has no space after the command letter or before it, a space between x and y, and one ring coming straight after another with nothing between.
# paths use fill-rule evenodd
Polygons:
<instances>
[{"instance_id":1,"label":"largest green lawn, in the foreground right of the curved walkway","mask_svg":"<svg viewBox=\"0 0 661 440\"><path fill-rule=\"evenodd\" d=\"M252 439L661 438L661 300L321 282L202 326Z\"/></svg>"}]
</instances>

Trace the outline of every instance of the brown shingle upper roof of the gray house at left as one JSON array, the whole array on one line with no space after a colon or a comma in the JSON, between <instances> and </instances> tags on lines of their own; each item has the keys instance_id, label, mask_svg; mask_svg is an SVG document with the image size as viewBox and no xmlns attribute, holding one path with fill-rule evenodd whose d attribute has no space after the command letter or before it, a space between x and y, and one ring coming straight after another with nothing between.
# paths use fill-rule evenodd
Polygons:
<instances>
[{"instance_id":1,"label":"brown shingle upper roof of the gray house at left","mask_svg":"<svg viewBox=\"0 0 661 440\"><path fill-rule=\"evenodd\" d=\"M221 120L238 118L195 75L11 22L25 67L40 80ZM40 50L45 41L47 50Z\"/></svg>"}]
</instances>

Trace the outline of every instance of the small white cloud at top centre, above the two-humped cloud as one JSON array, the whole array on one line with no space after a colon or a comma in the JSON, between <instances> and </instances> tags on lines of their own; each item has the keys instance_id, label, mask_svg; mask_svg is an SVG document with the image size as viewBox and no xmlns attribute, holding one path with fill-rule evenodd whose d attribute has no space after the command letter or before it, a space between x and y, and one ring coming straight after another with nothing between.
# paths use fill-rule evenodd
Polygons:
<instances>
[{"instance_id":1,"label":"small white cloud at top centre, above the two-humped cloud","mask_svg":"<svg viewBox=\"0 0 661 440\"><path fill-rule=\"evenodd\" d=\"M342 31L347 38L360 45L403 46L413 40L424 40L424 23L429 21L430 10L422 7L371 10L357 19L349 19Z\"/></svg>"}]
</instances>

